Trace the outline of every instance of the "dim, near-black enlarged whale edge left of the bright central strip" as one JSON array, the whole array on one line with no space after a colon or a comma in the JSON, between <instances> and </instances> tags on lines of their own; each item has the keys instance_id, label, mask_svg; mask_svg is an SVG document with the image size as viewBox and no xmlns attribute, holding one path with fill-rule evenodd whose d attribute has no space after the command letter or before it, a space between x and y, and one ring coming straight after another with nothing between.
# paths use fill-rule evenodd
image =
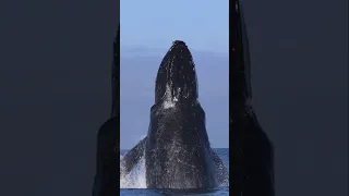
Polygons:
<instances>
[{"instance_id":1,"label":"dim, near-black enlarged whale edge left of the bright central strip","mask_svg":"<svg viewBox=\"0 0 349 196\"><path fill-rule=\"evenodd\" d=\"M111 74L111 115L97 133L96 175L93 196L116 196L120 183L120 142L119 142L119 69L120 69L120 25L113 41L113 62Z\"/></svg>"}]
</instances>

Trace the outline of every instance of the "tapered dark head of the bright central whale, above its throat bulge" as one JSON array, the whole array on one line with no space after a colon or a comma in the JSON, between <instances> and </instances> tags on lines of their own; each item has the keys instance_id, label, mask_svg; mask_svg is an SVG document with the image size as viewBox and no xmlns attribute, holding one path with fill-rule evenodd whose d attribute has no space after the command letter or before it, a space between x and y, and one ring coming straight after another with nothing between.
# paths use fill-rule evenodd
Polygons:
<instances>
[{"instance_id":1,"label":"tapered dark head of the bright central whale, above its throat bulge","mask_svg":"<svg viewBox=\"0 0 349 196\"><path fill-rule=\"evenodd\" d=\"M184 41L173 41L159 66L155 102L192 102L198 97L193 57Z\"/></svg>"}]
</instances>

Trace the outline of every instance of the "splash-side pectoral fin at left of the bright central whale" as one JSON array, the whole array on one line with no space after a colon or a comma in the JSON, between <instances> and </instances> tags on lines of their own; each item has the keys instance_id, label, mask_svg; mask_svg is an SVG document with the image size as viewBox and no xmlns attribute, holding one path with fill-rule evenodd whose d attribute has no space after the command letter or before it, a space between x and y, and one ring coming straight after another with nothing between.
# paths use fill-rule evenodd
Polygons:
<instances>
[{"instance_id":1,"label":"splash-side pectoral fin at left of the bright central whale","mask_svg":"<svg viewBox=\"0 0 349 196\"><path fill-rule=\"evenodd\" d=\"M145 142L146 137L122 157L120 162L122 173L129 173L140 162L144 155Z\"/></svg>"}]
</instances>

